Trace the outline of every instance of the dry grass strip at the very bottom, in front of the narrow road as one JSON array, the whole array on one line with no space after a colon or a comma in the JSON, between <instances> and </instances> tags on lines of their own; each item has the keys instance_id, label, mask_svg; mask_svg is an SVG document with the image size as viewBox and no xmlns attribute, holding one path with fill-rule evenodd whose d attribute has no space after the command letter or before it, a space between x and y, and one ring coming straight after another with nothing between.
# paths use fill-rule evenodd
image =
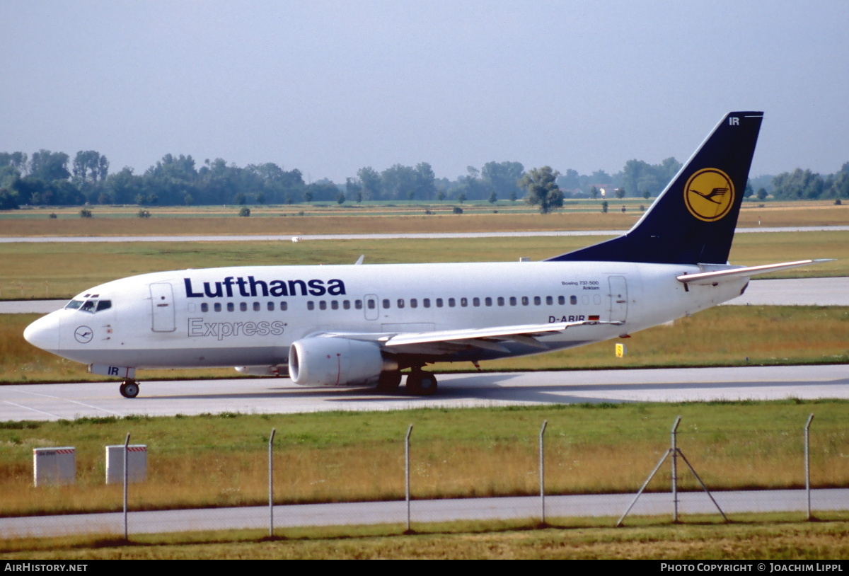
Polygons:
<instances>
[{"instance_id":1,"label":"dry grass strip at the very bottom, in front of the narrow road","mask_svg":"<svg viewBox=\"0 0 849 576\"><path fill-rule=\"evenodd\" d=\"M397 527L286 530L285 538L263 533L140 535L132 544L110 537L20 539L0 543L0 558L24 560L97 559L656 559L656 560L827 560L849 556L846 514L824 522L798 522L798 515L745 515L732 524L694 517L670 526L635 519L626 528L612 520L557 519L531 529L519 522L456 522ZM769 568L767 567L767 570Z\"/></svg>"}]
</instances>

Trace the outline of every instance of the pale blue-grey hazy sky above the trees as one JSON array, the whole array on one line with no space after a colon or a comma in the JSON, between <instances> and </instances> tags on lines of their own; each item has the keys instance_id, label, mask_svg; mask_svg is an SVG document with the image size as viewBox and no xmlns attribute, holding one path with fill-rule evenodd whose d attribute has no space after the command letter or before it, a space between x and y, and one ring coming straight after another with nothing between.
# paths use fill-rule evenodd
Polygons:
<instances>
[{"instance_id":1,"label":"pale blue-grey hazy sky above the trees","mask_svg":"<svg viewBox=\"0 0 849 576\"><path fill-rule=\"evenodd\" d=\"M753 176L849 161L849 2L0 2L0 151L143 172L617 172L764 110Z\"/></svg>"}]
</instances>

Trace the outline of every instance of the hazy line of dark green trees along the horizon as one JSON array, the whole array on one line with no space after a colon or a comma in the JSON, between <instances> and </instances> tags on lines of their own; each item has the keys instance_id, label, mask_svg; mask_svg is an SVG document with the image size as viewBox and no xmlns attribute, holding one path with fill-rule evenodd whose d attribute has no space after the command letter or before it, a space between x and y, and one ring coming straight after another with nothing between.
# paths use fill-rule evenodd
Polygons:
<instances>
[{"instance_id":1,"label":"hazy line of dark green trees along the horizon","mask_svg":"<svg viewBox=\"0 0 849 576\"><path fill-rule=\"evenodd\" d=\"M306 183L297 168L284 170L273 162L239 167L222 158L200 167L191 155L162 156L143 174L131 167L110 172L110 162L96 150L80 150L73 160L64 152L38 150L0 152L0 209L19 206L80 206L138 204L178 206L216 204L300 204L363 200L519 200L548 212L564 198L596 197L610 189L616 197L658 195L681 168L675 158L659 164L629 160L621 171L580 174L551 167L526 171L516 161L491 161L480 169L467 167L457 178L436 178L427 162L395 164L383 171L360 168L344 183L327 178ZM755 191L755 187L757 191ZM849 162L839 172L822 176L797 168L778 176L751 181L745 195L779 200L849 198ZM610 195L608 195L610 197Z\"/></svg>"}]
</instances>

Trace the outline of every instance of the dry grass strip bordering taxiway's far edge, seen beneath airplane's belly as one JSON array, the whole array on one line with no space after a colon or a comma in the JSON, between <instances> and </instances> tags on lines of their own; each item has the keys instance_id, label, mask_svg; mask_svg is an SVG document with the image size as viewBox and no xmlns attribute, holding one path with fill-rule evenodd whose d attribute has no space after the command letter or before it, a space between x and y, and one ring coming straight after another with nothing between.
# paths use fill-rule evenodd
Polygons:
<instances>
[{"instance_id":1,"label":"dry grass strip bordering taxiway's far edge, seen beneath airplane's belly","mask_svg":"<svg viewBox=\"0 0 849 576\"><path fill-rule=\"evenodd\" d=\"M23 338L37 314L0 314L0 382L98 381L83 364L60 359ZM613 342L563 352L493 360L484 370L576 370L746 364L849 362L849 308L734 306L711 308L634 334L628 354L616 359ZM717 342L721 342L717 346ZM472 370L471 364L436 364L436 371ZM140 370L142 380L233 377L233 369Z\"/></svg>"}]
</instances>

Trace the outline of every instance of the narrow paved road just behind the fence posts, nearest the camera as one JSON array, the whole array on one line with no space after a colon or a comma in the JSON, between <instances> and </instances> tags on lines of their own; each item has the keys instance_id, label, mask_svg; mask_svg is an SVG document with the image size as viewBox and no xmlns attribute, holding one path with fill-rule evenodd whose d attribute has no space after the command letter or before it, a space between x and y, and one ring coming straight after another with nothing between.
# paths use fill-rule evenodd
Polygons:
<instances>
[{"instance_id":1,"label":"narrow paved road just behind the fence posts, nearest the camera","mask_svg":"<svg viewBox=\"0 0 849 576\"><path fill-rule=\"evenodd\" d=\"M130 487L132 494L132 486ZM807 512L805 490L757 490L711 493L730 518L743 512L799 511ZM613 517L627 510L633 494L576 494L545 499L546 518ZM813 511L846 509L849 489L829 488L811 491ZM537 497L467 498L446 500L413 500L410 521L453 522L458 520L496 520L541 518L542 501ZM704 492L678 494L678 511L687 514L716 514L717 508ZM633 516L672 514L672 494L643 494L623 524ZM274 527L344 526L356 524L402 524L407 522L404 500L388 502L351 502L345 504L306 504L274 506ZM610 522L611 525L614 522ZM268 506L240 508L206 508L202 510L169 510L130 512L129 534L157 534L193 530L238 530L268 528ZM104 514L68 514L63 516L0 518L0 538L45 537L67 534L124 534L121 512Z\"/></svg>"}]
</instances>

